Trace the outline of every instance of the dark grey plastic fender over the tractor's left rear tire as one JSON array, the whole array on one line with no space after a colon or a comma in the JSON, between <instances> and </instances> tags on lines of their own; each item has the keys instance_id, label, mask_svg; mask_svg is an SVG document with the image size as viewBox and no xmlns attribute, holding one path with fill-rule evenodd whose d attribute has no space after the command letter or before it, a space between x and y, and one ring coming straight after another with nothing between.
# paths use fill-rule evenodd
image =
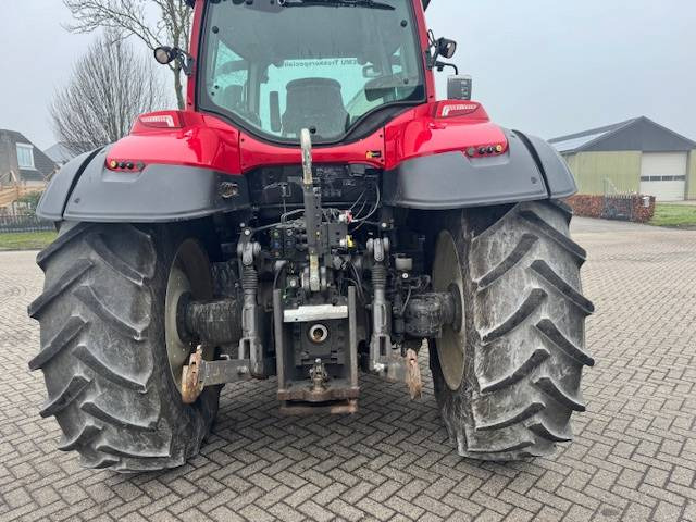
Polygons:
<instances>
[{"instance_id":1,"label":"dark grey plastic fender over the tractor's left rear tire","mask_svg":"<svg viewBox=\"0 0 696 522\"><path fill-rule=\"evenodd\" d=\"M52 221L163 223L195 220L249 207L241 175L183 165L147 165L141 172L105 167L107 151L66 164L37 209ZM233 189L234 195L223 189Z\"/></svg>"}]
</instances>

